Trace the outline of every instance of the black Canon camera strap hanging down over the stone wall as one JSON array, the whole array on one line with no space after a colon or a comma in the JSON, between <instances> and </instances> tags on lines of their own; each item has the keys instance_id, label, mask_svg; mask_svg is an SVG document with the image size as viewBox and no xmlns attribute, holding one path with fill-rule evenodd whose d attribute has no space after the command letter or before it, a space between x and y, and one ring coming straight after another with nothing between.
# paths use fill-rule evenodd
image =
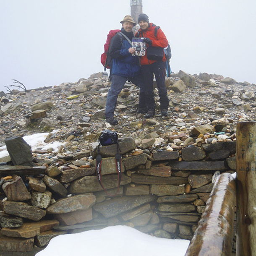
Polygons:
<instances>
[{"instance_id":1,"label":"black Canon camera strap hanging down over the stone wall","mask_svg":"<svg viewBox=\"0 0 256 256\"><path fill-rule=\"evenodd\" d=\"M96 173L97 173L97 176L98 176L98 181L99 181L99 184L102 186L103 190L105 191L105 193L107 193L109 196L115 196L117 195L118 191L119 191L119 187L120 187L120 183L121 183L121 179L122 179L122 167L121 167L121 155L119 154L119 145L117 143L117 154L115 155L115 166L116 166L116 170L118 172L118 190L116 191L116 193L114 195L111 195L110 193L108 193L106 191L106 189L104 188L103 184L102 184L102 181L101 181L101 172L100 172L100 167L101 167L101 164L102 164L102 157L100 155L100 152L99 152L99 146L100 144L98 145L98 154L97 154L97 157L96 157Z\"/></svg>"}]
</instances>

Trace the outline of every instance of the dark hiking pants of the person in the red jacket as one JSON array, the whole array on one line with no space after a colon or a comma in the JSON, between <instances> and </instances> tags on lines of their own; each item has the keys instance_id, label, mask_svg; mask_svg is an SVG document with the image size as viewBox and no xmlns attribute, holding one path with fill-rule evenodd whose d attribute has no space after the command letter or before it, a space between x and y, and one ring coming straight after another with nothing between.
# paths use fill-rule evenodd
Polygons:
<instances>
[{"instance_id":1,"label":"dark hiking pants of the person in the red jacket","mask_svg":"<svg viewBox=\"0 0 256 256\"><path fill-rule=\"evenodd\" d=\"M160 108L168 109L169 99L167 97L167 89L165 87L165 62L157 61L150 65L141 65L142 74L146 86L146 102L149 110L155 110L156 104L154 102L154 75L157 81L157 88L159 94Z\"/></svg>"}]
</instances>

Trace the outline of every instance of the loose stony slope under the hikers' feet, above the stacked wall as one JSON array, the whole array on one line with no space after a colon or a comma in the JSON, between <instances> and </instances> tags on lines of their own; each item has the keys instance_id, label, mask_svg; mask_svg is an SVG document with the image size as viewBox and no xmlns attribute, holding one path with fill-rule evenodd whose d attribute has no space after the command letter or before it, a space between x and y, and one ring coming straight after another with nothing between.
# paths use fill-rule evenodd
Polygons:
<instances>
[{"instance_id":1,"label":"loose stony slope under the hikers' feet, above the stacked wall","mask_svg":"<svg viewBox=\"0 0 256 256\"><path fill-rule=\"evenodd\" d=\"M199 125L214 125L215 133L227 133L231 138L229 136L235 133L237 122L255 120L255 84L238 83L215 74L191 76L180 71L167 78L166 86L170 99L169 116L164 118L160 115L155 89L157 115L147 120L142 114L136 114L139 90L127 82L118 98L115 117L119 124L116 126L109 125L104 119L110 88L106 73L93 74L88 79L81 78L76 83L63 83L52 88L14 89L11 94L2 91L0 146L5 145L7 137L55 130L50 133L48 141L66 141L62 149L65 154L89 149L100 132L109 128L117 131L119 137L132 136L138 146L146 133L157 131L162 138L161 149L175 149L177 145L167 138L177 134L194 136L191 131Z\"/></svg>"}]
</instances>

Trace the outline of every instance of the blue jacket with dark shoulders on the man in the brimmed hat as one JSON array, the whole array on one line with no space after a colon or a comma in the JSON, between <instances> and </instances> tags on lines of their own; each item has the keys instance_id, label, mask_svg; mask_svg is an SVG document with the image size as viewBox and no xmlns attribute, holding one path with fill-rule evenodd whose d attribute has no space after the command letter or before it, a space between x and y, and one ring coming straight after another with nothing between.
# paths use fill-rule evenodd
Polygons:
<instances>
[{"instance_id":1,"label":"blue jacket with dark shoulders on the man in the brimmed hat","mask_svg":"<svg viewBox=\"0 0 256 256\"><path fill-rule=\"evenodd\" d=\"M133 38L133 32L126 32L123 28L121 32L130 40ZM131 44L120 33L116 34L110 43L109 47L111 61L111 75L133 78L141 72L138 56L132 56L128 51Z\"/></svg>"}]
</instances>

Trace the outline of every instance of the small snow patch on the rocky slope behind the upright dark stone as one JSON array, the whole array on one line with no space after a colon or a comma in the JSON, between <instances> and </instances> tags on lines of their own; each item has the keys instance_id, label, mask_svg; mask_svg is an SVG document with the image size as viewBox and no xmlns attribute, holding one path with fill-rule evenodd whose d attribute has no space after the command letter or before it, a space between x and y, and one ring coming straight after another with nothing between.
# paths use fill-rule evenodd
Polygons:
<instances>
[{"instance_id":1,"label":"small snow patch on the rocky slope behind the upright dark stone","mask_svg":"<svg viewBox=\"0 0 256 256\"><path fill-rule=\"evenodd\" d=\"M29 146L31 146L32 152L36 149L47 150L53 148L53 152L56 152L60 145L63 145L60 141L54 141L51 144L44 142L49 133L35 133L33 135L24 136L23 139ZM2 151L1 151L2 150ZM0 147L0 158L8 156L9 153L6 150L6 146Z\"/></svg>"}]
</instances>

